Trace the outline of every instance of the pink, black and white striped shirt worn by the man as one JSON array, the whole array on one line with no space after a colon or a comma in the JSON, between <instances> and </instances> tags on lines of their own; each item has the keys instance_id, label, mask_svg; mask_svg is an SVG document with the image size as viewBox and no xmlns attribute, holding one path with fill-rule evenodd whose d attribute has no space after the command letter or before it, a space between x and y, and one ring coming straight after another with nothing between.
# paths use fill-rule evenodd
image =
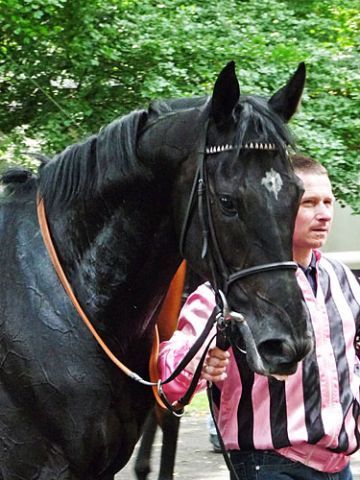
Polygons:
<instances>
[{"instance_id":1,"label":"pink, black and white striped shirt worn by the man","mask_svg":"<svg viewBox=\"0 0 360 480\"><path fill-rule=\"evenodd\" d=\"M214 386L214 396L219 399L217 422L228 450L275 450L317 470L337 472L348 464L360 439L360 378L355 374L360 287L347 267L317 251L315 255L316 297L302 270L297 271L311 315L314 351L286 382L278 382L250 370L242 378L243 369L238 368L230 349L228 377ZM161 344L161 378L169 376L191 347L214 306L208 284L189 296L178 330ZM184 394L194 362L164 388L171 401ZM205 386L201 380L198 389ZM245 398L249 401L243 402Z\"/></svg>"}]
</instances>

